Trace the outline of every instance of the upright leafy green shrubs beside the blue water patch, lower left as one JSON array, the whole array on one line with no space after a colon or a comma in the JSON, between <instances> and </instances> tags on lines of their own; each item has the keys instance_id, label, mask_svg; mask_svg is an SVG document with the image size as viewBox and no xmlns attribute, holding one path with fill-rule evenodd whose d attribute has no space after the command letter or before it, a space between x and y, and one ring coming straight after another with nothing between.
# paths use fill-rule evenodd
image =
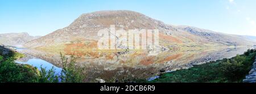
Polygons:
<instances>
[{"instance_id":1,"label":"upright leafy green shrubs beside the blue water patch, lower left","mask_svg":"<svg viewBox=\"0 0 256 94\"><path fill-rule=\"evenodd\" d=\"M63 83L81 83L84 80L84 74L82 74L82 69L75 66L76 58L71 55L70 61L63 54L61 56L61 63L63 64L63 70L61 74L58 75L55 69L52 67L50 70L46 70L46 67L40 67L38 82L39 83L58 83L59 79Z\"/></svg>"}]
</instances>

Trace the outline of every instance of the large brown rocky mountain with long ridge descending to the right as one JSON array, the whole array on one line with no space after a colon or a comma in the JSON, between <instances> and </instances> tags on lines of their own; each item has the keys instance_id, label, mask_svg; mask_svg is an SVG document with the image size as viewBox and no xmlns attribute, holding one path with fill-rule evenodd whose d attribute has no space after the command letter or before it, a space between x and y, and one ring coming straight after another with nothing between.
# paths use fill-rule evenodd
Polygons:
<instances>
[{"instance_id":1,"label":"large brown rocky mountain with long ridge descending to the right","mask_svg":"<svg viewBox=\"0 0 256 94\"><path fill-rule=\"evenodd\" d=\"M167 25L159 20L152 19L139 12L117 10L97 11L82 14L72 24L63 29L58 29L39 39L24 44L28 48L41 48L56 44L69 44L72 41L97 41L97 31L110 28L116 29L159 29L160 41L172 44L186 45L217 44L217 45L254 45L255 41L244 36L229 35L213 32L207 29L189 27L184 25Z\"/></svg>"}]
</instances>

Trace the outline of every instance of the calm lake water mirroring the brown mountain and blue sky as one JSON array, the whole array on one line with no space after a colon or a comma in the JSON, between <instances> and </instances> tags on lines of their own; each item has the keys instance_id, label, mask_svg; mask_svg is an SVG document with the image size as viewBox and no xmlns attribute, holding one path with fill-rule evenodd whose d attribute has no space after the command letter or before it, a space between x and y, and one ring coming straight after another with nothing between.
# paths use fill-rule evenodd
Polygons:
<instances>
[{"instance_id":1,"label":"calm lake water mirroring the brown mountain and blue sky","mask_svg":"<svg viewBox=\"0 0 256 94\"><path fill-rule=\"evenodd\" d=\"M246 46L221 50L184 50L183 52L164 52L156 57L146 57L145 55L134 57L129 55L113 59L102 59L101 57L88 58L82 56L77 59L77 65L84 68L86 81L88 82L96 78L104 80L117 78L146 79L158 75L160 70L174 71L187 69L193 65L243 54L249 48L252 47ZM47 70L53 67L56 70L56 74L61 71L61 60L58 53L34 49L17 50L19 53L26 54L26 57L18 59L17 63L32 65L39 69L42 66L46 67Z\"/></svg>"}]
</instances>

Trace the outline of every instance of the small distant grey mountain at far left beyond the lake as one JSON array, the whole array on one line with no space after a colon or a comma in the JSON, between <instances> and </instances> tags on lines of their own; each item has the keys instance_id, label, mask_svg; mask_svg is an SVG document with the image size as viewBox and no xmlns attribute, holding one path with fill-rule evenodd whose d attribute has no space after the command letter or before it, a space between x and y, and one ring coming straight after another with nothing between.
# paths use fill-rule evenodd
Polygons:
<instances>
[{"instance_id":1,"label":"small distant grey mountain at far left beyond the lake","mask_svg":"<svg viewBox=\"0 0 256 94\"><path fill-rule=\"evenodd\" d=\"M40 36L30 36L28 33L0 34L0 44L22 47L28 41L38 39Z\"/></svg>"}]
</instances>

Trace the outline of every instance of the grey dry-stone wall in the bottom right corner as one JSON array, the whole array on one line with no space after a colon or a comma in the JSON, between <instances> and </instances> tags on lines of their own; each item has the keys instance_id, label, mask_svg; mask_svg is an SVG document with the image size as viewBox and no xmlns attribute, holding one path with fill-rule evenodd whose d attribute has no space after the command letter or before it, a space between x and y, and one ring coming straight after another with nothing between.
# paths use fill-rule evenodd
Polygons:
<instances>
[{"instance_id":1,"label":"grey dry-stone wall in the bottom right corner","mask_svg":"<svg viewBox=\"0 0 256 94\"><path fill-rule=\"evenodd\" d=\"M256 58L256 57L255 57ZM253 68L249 72L249 75L243 80L244 83L256 83L256 59L253 63Z\"/></svg>"}]
</instances>

